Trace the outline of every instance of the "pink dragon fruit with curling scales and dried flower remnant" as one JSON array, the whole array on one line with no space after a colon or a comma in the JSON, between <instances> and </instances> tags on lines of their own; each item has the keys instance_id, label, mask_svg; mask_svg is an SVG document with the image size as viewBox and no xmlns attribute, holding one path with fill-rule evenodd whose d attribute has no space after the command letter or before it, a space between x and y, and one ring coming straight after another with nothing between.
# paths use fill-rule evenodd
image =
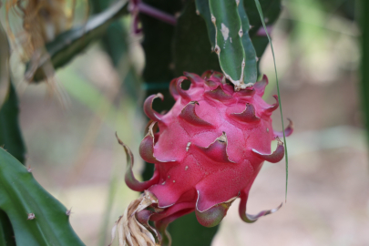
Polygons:
<instances>
[{"instance_id":1,"label":"pink dragon fruit with curling scales and dried flower remnant","mask_svg":"<svg viewBox=\"0 0 369 246\"><path fill-rule=\"evenodd\" d=\"M272 106L261 98L268 78L234 91L218 72L207 71L201 77L184 75L170 82L176 103L167 114L152 108L155 98L163 99L161 94L148 97L144 103L151 123L139 154L155 165L151 179L135 179L132 153L118 139L128 157L126 183L131 190L144 191L122 217L128 245L157 245L155 241L170 245L168 224L192 211L201 225L216 226L237 198L241 199L239 212L245 222L254 222L281 207L257 215L246 213L248 194L263 161L275 163L284 156L278 138L282 132L272 129L271 115L279 106L278 97L274 96ZM187 79L190 89L184 90L181 83ZM290 121L286 136L292 130ZM274 139L278 146L272 152ZM155 228L149 220L155 222ZM142 242L144 239L147 241Z\"/></svg>"}]
</instances>

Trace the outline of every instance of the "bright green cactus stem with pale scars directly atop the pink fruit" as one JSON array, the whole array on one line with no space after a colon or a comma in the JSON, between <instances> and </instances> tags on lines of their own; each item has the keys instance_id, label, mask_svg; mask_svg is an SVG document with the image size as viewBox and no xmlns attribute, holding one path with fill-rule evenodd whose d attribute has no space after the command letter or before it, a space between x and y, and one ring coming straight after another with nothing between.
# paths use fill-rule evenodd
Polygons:
<instances>
[{"instance_id":1,"label":"bright green cactus stem with pale scars directly atop the pink fruit","mask_svg":"<svg viewBox=\"0 0 369 246\"><path fill-rule=\"evenodd\" d=\"M216 33L214 51L223 74L235 90L252 86L257 80L257 58L243 2L210 0L210 14Z\"/></svg>"}]
</instances>

